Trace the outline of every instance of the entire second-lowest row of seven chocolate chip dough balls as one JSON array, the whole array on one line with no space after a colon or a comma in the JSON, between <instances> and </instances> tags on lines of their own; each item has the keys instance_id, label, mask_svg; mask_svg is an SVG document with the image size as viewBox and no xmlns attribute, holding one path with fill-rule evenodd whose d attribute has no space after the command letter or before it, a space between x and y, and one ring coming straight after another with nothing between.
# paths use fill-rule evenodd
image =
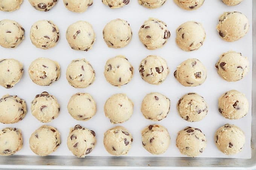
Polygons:
<instances>
[{"instance_id":1,"label":"entire second-lowest row of seven chocolate chip dough balls","mask_svg":"<svg viewBox=\"0 0 256 170\"><path fill-rule=\"evenodd\" d=\"M141 112L146 119L160 121L170 111L170 99L161 93L147 94L141 104ZM230 90L219 97L218 110L227 119L241 119L249 110L245 95ZM40 122L48 123L59 116L60 106L55 96L43 92L31 102L31 113ZM97 110L96 102L88 93L74 94L67 105L69 114L76 120L89 120ZM197 93L187 93L177 102L178 114L188 122L202 120L208 113L208 104ZM125 94L117 93L107 99L104 105L105 116L113 124L129 120L133 114L133 102ZM0 99L0 122L17 123L27 113L26 102L18 96L5 95Z\"/></svg>"}]
</instances>

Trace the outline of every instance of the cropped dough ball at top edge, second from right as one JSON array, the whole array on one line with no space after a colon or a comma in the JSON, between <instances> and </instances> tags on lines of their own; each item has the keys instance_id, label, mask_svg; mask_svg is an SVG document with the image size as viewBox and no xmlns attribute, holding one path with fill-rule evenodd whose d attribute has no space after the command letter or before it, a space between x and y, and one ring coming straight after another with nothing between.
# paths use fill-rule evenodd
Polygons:
<instances>
[{"instance_id":1,"label":"cropped dough ball at top edge, second from right","mask_svg":"<svg viewBox=\"0 0 256 170\"><path fill-rule=\"evenodd\" d=\"M174 0L174 2L182 9L194 10L200 8L204 0Z\"/></svg>"}]
</instances>

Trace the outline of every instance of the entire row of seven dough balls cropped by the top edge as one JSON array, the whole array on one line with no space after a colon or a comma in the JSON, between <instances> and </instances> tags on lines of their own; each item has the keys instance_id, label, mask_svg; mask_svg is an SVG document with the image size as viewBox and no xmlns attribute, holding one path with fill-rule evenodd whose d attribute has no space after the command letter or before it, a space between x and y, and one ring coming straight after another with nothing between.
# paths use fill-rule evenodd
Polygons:
<instances>
[{"instance_id":1,"label":"entire row of seven dough balls cropped by the top edge","mask_svg":"<svg viewBox=\"0 0 256 170\"><path fill-rule=\"evenodd\" d=\"M159 8L166 0L139 0L139 4L149 9ZM20 8L23 0L1 0L0 10L12 12ZM49 11L57 3L57 0L29 0L30 4L38 11ZM102 3L110 8L120 8L127 5L130 0L102 0ZM194 10L203 5L204 0L174 0L174 2L182 9ZM235 6L242 0L222 0L228 6ZM85 12L88 6L93 5L93 0L63 0L64 5L72 12Z\"/></svg>"}]
</instances>

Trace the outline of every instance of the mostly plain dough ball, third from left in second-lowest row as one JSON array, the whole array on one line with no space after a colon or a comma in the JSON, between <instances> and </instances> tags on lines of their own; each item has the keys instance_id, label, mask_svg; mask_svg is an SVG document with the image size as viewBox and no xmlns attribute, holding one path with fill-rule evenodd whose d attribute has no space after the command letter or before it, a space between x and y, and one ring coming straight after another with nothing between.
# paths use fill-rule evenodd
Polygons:
<instances>
[{"instance_id":1,"label":"mostly plain dough ball, third from left in second-lowest row","mask_svg":"<svg viewBox=\"0 0 256 170\"><path fill-rule=\"evenodd\" d=\"M74 119L89 120L95 115L97 107L90 94L76 93L70 98L67 109Z\"/></svg>"}]
</instances>

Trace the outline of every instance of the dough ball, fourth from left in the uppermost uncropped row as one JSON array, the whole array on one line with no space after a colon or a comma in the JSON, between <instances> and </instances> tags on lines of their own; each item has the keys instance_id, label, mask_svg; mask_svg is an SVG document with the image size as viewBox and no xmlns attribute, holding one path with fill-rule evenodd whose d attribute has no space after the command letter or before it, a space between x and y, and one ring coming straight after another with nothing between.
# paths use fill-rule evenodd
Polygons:
<instances>
[{"instance_id":1,"label":"dough ball, fourth from left in the uppermost uncropped row","mask_svg":"<svg viewBox=\"0 0 256 170\"><path fill-rule=\"evenodd\" d=\"M132 35L130 24L119 18L107 23L103 30L104 41L110 48L125 47Z\"/></svg>"}]
</instances>

